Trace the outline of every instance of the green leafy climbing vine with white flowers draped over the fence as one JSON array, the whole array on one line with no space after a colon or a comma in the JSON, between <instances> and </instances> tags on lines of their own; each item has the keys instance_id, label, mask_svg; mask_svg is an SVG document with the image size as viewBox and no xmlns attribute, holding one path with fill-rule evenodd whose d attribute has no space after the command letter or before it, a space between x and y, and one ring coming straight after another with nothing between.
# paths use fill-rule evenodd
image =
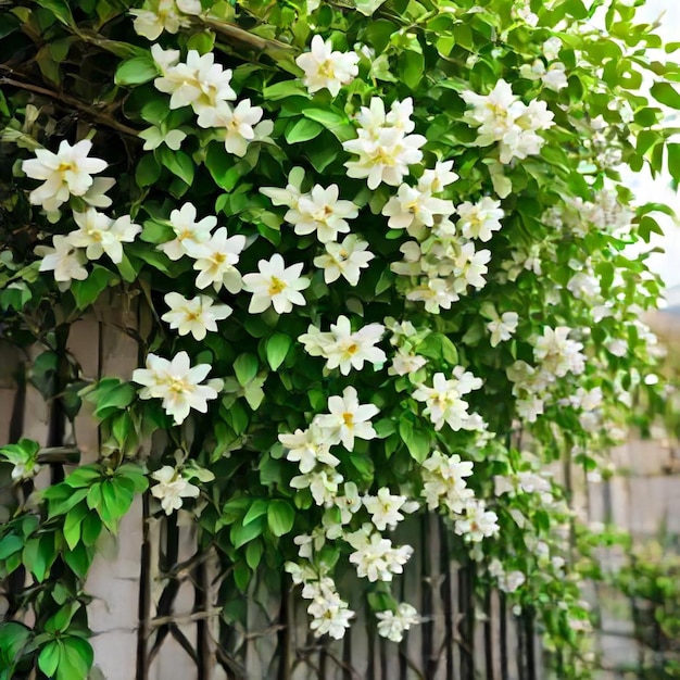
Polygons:
<instances>
[{"instance_id":1,"label":"green leafy climbing vine with white flowers draped over the fence","mask_svg":"<svg viewBox=\"0 0 680 680\"><path fill-rule=\"evenodd\" d=\"M91 402L102 435L100 463L1 530L2 574L41 588L0 658L85 677L83 580L149 475L154 512L192 513L231 567L225 610L255 570L316 592L356 568L399 639L392 615L414 621L382 581L408 546L379 532L419 501L458 561L536 609L558 677L588 677L568 493L545 469L597 468L634 393L662 401L640 320L659 282L627 249L668 209L634 205L620 167L677 175L662 122L679 67L647 56L660 40L618 0L169 4L0 9L4 335L45 347L32 381L72 418ZM104 166L115 181L96 186ZM146 368L87 385L65 339L110 300L135 305ZM354 431L332 425L339 404ZM311 426L326 439L305 470L290 437ZM26 479L39 450L2 456ZM379 578L363 527L390 545ZM333 589L317 634L349 625Z\"/></svg>"}]
</instances>

